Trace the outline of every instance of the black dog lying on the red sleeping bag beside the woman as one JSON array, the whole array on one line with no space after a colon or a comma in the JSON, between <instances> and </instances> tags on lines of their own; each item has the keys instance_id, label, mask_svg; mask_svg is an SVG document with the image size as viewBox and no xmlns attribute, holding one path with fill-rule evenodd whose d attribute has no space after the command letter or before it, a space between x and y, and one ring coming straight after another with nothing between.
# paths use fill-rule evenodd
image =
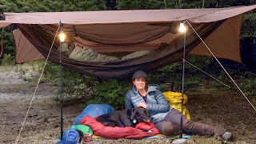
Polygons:
<instances>
[{"instance_id":1,"label":"black dog lying on the red sleeping bag beside the woman","mask_svg":"<svg viewBox=\"0 0 256 144\"><path fill-rule=\"evenodd\" d=\"M113 113L102 114L96 118L104 126L135 127L138 122L151 122L148 111L143 107L128 110L115 110Z\"/></svg>"}]
</instances>

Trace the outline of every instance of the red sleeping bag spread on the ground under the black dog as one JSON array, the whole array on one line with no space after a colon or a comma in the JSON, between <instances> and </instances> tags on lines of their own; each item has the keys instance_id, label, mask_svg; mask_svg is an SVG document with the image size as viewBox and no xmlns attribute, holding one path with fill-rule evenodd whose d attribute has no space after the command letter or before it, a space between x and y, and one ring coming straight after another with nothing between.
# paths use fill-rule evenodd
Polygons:
<instances>
[{"instance_id":1,"label":"red sleeping bag spread on the ground under the black dog","mask_svg":"<svg viewBox=\"0 0 256 144\"><path fill-rule=\"evenodd\" d=\"M134 127L112 127L103 126L102 123L97 122L95 118L86 116L82 118L81 125L90 126L94 131L94 135L101 136L103 138L118 139L118 138L145 138L159 134L158 129L154 127L153 122L139 122ZM149 133L145 130L151 130Z\"/></svg>"}]
</instances>

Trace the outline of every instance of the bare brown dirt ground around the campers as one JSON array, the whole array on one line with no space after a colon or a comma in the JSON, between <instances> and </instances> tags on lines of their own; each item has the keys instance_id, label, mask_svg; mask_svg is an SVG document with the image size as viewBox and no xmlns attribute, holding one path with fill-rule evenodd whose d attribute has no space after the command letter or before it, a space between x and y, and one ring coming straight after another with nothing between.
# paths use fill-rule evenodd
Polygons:
<instances>
[{"instance_id":1,"label":"bare brown dirt ground around the campers","mask_svg":"<svg viewBox=\"0 0 256 144\"><path fill-rule=\"evenodd\" d=\"M0 82L6 73L0 74ZM11 73L0 86L1 133L0 143L15 143L22 122L30 105L35 87L24 81L23 74ZM31 75L30 75L31 76ZM32 74L33 76L33 74ZM38 76L38 74L34 74ZM25 126L18 143L55 143L60 132L60 105L54 102L58 87L42 83L38 87ZM192 120L219 126L234 134L234 140L227 143L256 143L256 111L238 92L230 90L190 90L187 107ZM255 99L250 98L254 106ZM65 106L64 127L74 124L82 112L78 105ZM170 143L169 138L151 139L94 139L90 143ZM221 138L192 136L187 143L226 143Z\"/></svg>"}]
</instances>

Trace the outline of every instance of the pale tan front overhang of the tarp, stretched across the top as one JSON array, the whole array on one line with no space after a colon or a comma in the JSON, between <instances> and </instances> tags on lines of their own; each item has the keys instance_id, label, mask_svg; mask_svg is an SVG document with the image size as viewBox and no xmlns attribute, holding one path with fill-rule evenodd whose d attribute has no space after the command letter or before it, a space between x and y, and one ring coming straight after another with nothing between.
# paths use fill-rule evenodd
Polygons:
<instances>
[{"instance_id":1,"label":"pale tan front overhang of the tarp, stretched across the top","mask_svg":"<svg viewBox=\"0 0 256 144\"><path fill-rule=\"evenodd\" d=\"M172 22L189 20L193 23L216 22L238 14L254 10L256 6L239 6L210 9L174 9L174 10L110 10L110 11L72 11L38 13L4 13L6 20L0 26L11 23L21 24L113 24L138 22Z\"/></svg>"}]
</instances>

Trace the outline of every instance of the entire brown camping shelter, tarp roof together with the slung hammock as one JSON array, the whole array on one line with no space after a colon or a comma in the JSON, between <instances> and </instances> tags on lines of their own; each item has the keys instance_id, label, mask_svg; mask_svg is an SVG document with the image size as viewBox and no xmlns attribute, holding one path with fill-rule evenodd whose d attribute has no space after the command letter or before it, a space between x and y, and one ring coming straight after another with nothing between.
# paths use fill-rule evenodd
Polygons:
<instances>
[{"instance_id":1,"label":"entire brown camping shelter, tarp roof together with the slung hammock","mask_svg":"<svg viewBox=\"0 0 256 144\"><path fill-rule=\"evenodd\" d=\"M15 27L16 63L46 58L59 62L59 40L54 41L59 23L67 38L100 54L148 50L138 58L110 62L80 62L62 54L62 65L98 78L124 78L135 70L155 70L182 59L184 36L180 22L189 22L217 58L242 62L240 32L243 14L256 9L238 6L207 9L111 10L3 13L0 27ZM189 27L186 54L212 56ZM162 43L168 44L159 48Z\"/></svg>"}]
</instances>

